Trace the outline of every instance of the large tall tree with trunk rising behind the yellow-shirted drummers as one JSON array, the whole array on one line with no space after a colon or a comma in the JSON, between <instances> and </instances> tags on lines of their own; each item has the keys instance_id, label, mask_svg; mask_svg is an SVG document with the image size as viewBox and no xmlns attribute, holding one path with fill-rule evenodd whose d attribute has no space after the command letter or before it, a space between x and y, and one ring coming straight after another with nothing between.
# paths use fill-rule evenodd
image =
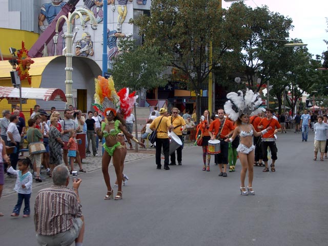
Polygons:
<instances>
[{"instance_id":1,"label":"large tall tree with trunk rising behind the yellow-shirted drummers","mask_svg":"<svg viewBox=\"0 0 328 246\"><path fill-rule=\"evenodd\" d=\"M245 36L242 19L236 13L235 22L224 22L217 0L154 0L151 15L142 15L134 23L146 36L146 46L159 46L161 52L172 54L168 66L188 78L188 89L197 95L197 115L201 115L200 91L221 55L238 50L236 45ZM215 47L211 64L210 42Z\"/></svg>"}]
</instances>

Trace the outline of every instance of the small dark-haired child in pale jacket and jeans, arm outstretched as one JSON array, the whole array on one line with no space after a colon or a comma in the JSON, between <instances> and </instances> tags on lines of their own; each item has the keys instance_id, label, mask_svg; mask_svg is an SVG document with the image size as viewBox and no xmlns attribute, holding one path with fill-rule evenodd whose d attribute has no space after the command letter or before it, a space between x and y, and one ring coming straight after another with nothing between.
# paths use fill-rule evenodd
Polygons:
<instances>
[{"instance_id":1,"label":"small dark-haired child in pale jacket and jeans, arm outstretched","mask_svg":"<svg viewBox=\"0 0 328 246\"><path fill-rule=\"evenodd\" d=\"M18 201L13 209L13 213L10 216L18 217L20 208L22 207L23 200L25 202L24 218L30 217L30 198L32 193L32 174L29 172L31 160L27 157L25 159L18 160L18 170L14 170L11 166L7 172L17 175L16 185L14 190L18 193Z\"/></svg>"}]
</instances>

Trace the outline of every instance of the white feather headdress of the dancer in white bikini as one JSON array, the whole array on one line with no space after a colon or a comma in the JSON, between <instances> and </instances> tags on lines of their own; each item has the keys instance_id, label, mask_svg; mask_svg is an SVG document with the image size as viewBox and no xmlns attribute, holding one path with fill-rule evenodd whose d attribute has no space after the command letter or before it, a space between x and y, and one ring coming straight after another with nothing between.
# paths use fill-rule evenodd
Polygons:
<instances>
[{"instance_id":1,"label":"white feather headdress of the dancer in white bikini","mask_svg":"<svg viewBox=\"0 0 328 246\"><path fill-rule=\"evenodd\" d=\"M262 99L260 94L246 89L245 94L242 91L230 92L227 94L228 101L224 104L224 111L232 120L237 120L241 114L249 116L262 112L260 108Z\"/></svg>"}]
</instances>

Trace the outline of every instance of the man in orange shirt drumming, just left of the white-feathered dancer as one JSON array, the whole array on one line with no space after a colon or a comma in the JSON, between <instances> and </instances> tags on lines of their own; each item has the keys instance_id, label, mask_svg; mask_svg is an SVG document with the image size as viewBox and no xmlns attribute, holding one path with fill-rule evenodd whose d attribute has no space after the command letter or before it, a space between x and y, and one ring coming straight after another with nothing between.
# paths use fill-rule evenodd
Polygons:
<instances>
[{"instance_id":1,"label":"man in orange shirt drumming, just left of the white-feathered dancer","mask_svg":"<svg viewBox=\"0 0 328 246\"><path fill-rule=\"evenodd\" d=\"M219 139L220 140L220 148L221 153L217 154L217 163L220 168L219 176L227 177L227 165L228 165L228 142L224 141L227 138L229 138L234 130L234 124L229 119L224 118L224 112L223 109L218 109L217 114L219 115L219 118L214 120L209 128L209 134L211 136L211 139ZM214 133L214 135L213 135ZM223 164L223 170L222 170L222 164Z\"/></svg>"}]
</instances>

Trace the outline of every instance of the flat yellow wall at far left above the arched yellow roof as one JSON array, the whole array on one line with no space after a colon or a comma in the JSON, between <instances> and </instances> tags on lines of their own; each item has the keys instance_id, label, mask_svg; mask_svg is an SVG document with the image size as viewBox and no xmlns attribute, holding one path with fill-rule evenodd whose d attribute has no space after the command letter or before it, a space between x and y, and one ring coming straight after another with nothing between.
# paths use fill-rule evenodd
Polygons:
<instances>
[{"instance_id":1,"label":"flat yellow wall at far left above the arched yellow roof","mask_svg":"<svg viewBox=\"0 0 328 246\"><path fill-rule=\"evenodd\" d=\"M0 49L4 56L11 54L9 52L9 48L13 47L16 50L22 49L22 41L25 43L26 49L31 49L33 44L39 37L38 33L28 32L23 30L14 30L7 28L0 28Z\"/></svg>"}]
</instances>

